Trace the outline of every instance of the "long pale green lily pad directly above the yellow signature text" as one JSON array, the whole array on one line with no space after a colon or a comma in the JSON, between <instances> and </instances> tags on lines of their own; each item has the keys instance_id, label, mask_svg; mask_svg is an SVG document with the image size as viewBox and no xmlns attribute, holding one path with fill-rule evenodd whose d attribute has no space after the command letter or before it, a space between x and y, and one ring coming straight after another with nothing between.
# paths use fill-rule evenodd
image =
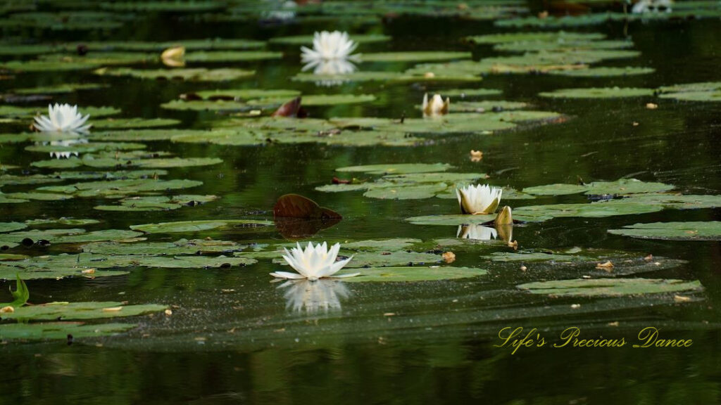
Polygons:
<instances>
[{"instance_id":1,"label":"long pale green lily pad directly above the yellow signature text","mask_svg":"<svg viewBox=\"0 0 721 405\"><path fill-rule=\"evenodd\" d=\"M648 278L598 278L527 282L516 286L534 294L559 297L598 297L678 293L702 290L699 281Z\"/></svg>"}]
</instances>

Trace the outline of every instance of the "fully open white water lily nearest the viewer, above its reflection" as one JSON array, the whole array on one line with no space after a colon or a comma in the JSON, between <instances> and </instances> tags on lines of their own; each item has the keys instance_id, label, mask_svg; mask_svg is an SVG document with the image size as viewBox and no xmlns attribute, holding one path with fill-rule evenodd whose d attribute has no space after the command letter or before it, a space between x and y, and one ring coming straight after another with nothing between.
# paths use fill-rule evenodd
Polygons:
<instances>
[{"instance_id":1,"label":"fully open white water lily nearest the viewer, above its reflection","mask_svg":"<svg viewBox=\"0 0 721 405\"><path fill-rule=\"evenodd\" d=\"M323 242L323 244L317 244L316 246L313 246L313 242L308 242L308 246L306 246L305 251L301 247L301 244L298 243L296 245L298 247L294 247L290 252L288 252L288 249L284 249L286 254L283 255L283 259L286 259L286 262L288 262L288 264L290 264L291 267L298 272L298 274L290 272L273 272L270 273L270 275L273 277L290 279L307 278L308 280L314 281L323 277L332 277L343 266L345 266L345 264L348 264L350 259L353 259L351 256L345 260L335 261L335 258L338 256L340 244L335 244L330 247L330 250L328 250L328 246L325 242ZM353 277L359 274L361 273L335 277Z\"/></svg>"}]
</instances>

